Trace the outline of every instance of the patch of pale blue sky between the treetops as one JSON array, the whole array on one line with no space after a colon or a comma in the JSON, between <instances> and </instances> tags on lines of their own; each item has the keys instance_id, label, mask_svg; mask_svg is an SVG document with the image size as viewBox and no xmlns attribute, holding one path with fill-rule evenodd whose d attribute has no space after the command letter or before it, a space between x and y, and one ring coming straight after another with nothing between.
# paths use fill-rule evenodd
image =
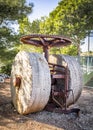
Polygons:
<instances>
[{"instance_id":1,"label":"patch of pale blue sky between the treetops","mask_svg":"<svg viewBox=\"0 0 93 130\"><path fill-rule=\"evenodd\" d=\"M27 0L27 3L32 2L34 4L33 11L29 15L29 20L40 19L43 16L48 16L53 11L60 0Z\"/></svg>"}]
</instances>

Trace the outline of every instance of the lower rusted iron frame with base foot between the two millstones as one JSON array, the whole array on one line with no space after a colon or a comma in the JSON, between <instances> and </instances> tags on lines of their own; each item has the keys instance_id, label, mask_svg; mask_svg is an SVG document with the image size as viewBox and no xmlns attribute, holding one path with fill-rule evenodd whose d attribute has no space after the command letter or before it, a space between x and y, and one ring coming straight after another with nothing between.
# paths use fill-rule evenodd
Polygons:
<instances>
[{"instance_id":1,"label":"lower rusted iron frame with base foot between the two millstones","mask_svg":"<svg viewBox=\"0 0 93 130\"><path fill-rule=\"evenodd\" d=\"M64 78L65 79L65 89L64 91L62 92L57 92L55 91L54 92L54 86L52 85L52 93L51 93L51 97L52 97L52 100L61 108L58 108L58 109L55 109L56 106L52 107L53 106L53 103L51 104L48 104L47 105L47 108L46 110L48 111L54 111L54 112L58 112L58 113L65 113L65 114L69 114L69 113L76 113L77 116L79 116L79 113L80 113L80 109L78 108L73 108L73 109L67 109L67 98L69 97L69 92L71 91L72 92L72 96L73 96L73 102L74 102L74 93L73 93L73 90L72 89L69 89L68 87L68 81L69 81L69 70L68 70L68 66L62 66L62 65L57 65L57 64L52 64L52 63L49 63L49 65L52 65L51 68L53 68L52 70L52 73L51 73L51 78ZM59 74L55 75L55 66L57 67L61 67L61 68L64 68L65 71L58 71ZM63 72L63 74L62 74ZM65 72L65 73L64 73ZM56 98L55 96L58 95L58 96L61 96L63 97L63 104L61 104Z\"/></svg>"}]
</instances>

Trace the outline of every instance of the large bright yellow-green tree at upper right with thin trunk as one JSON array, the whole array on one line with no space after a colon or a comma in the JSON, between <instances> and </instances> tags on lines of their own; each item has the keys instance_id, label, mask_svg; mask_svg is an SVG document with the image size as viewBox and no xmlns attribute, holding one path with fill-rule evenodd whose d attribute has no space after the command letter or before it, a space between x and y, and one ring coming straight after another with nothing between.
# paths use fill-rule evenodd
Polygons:
<instances>
[{"instance_id":1,"label":"large bright yellow-green tree at upper right with thin trunk","mask_svg":"<svg viewBox=\"0 0 93 130\"><path fill-rule=\"evenodd\" d=\"M69 36L80 52L81 39L93 29L93 0L61 0L44 25L46 33Z\"/></svg>"}]
</instances>

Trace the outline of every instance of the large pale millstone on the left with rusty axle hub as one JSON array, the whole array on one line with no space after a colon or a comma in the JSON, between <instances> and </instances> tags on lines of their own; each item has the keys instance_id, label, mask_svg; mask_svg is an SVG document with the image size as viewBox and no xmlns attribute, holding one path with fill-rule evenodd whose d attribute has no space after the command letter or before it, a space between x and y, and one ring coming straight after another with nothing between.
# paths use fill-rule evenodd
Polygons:
<instances>
[{"instance_id":1,"label":"large pale millstone on the left with rusty axle hub","mask_svg":"<svg viewBox=\"0 0 93 130\"><path fill-rule=\"evenodd\" d=\"M20 77L20 86L16 84ZM11 97L20 114L41 111L47 104L51 91L48 63L43 55L19 52L12 65Z\"/></svg>"}]
</instances>

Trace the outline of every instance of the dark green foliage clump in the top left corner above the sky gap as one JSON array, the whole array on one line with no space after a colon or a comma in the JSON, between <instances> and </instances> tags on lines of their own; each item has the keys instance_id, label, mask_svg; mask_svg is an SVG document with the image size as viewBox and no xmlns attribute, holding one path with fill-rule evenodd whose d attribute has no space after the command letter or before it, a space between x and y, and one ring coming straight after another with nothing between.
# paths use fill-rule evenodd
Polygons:
<instances>
[{"instance_id":1,"label":"dark green foliage clump in the top left corner above the sky gap","mask_svg":"<svg viewBox=\"0 0 93 130\"><path fill-rule=\"evenodd\" d=\"M0 0L0 18L3 20L18 20L31 13L33 4L26 0Z\"/></svg>"}]
</instances>

